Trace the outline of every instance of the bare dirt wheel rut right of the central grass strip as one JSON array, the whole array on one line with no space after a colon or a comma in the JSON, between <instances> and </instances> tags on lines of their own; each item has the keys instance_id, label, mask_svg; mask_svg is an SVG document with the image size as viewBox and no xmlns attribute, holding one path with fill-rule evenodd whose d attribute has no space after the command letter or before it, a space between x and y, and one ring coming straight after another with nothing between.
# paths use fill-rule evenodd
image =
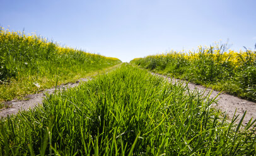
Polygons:
<instances>
[{"instance_id":1,"label":"bare dirt wheel rut right of the central grass strip","mask_svg":"<svg viewBox=\"0 0 256 156\"><path fill-rule=\"evenodd\" d=\"M161 74L155 74L155 73L152 73L152 74L165 77L166 79L168 79L169 82L172 82L172 84L175 84L175 82L182 82L183 86L187 84L187 81L170 78L168 76L161 75ZM198 91L202 91L202 92L206 90L206 92L204 93L204 96L206 96L208 92L212 91L212 89L207 89L204 86L196 85L190 82L188 83L188 87L190 90L197 89ZM219 94L219 91L212 91L210 97L214 98L218 94ZM228 118L233 118L233 115L236 111L236 116L239 115L238 119L240 119L241 116L243 116L243 113L247 111L247 114L245 115L245 118L243 120L243 125L246 125L251 118L253 118L253 120L256 119L256 103L253 103L252 101L247 101L245 99L240 99L239 97L231 96L230 94L225 94L225 93L219 94L217 99L218 99L217 104L213 104L213 106L217 109L220 109L223 112L226 112Z\"/></svg>"}]
</instances>

